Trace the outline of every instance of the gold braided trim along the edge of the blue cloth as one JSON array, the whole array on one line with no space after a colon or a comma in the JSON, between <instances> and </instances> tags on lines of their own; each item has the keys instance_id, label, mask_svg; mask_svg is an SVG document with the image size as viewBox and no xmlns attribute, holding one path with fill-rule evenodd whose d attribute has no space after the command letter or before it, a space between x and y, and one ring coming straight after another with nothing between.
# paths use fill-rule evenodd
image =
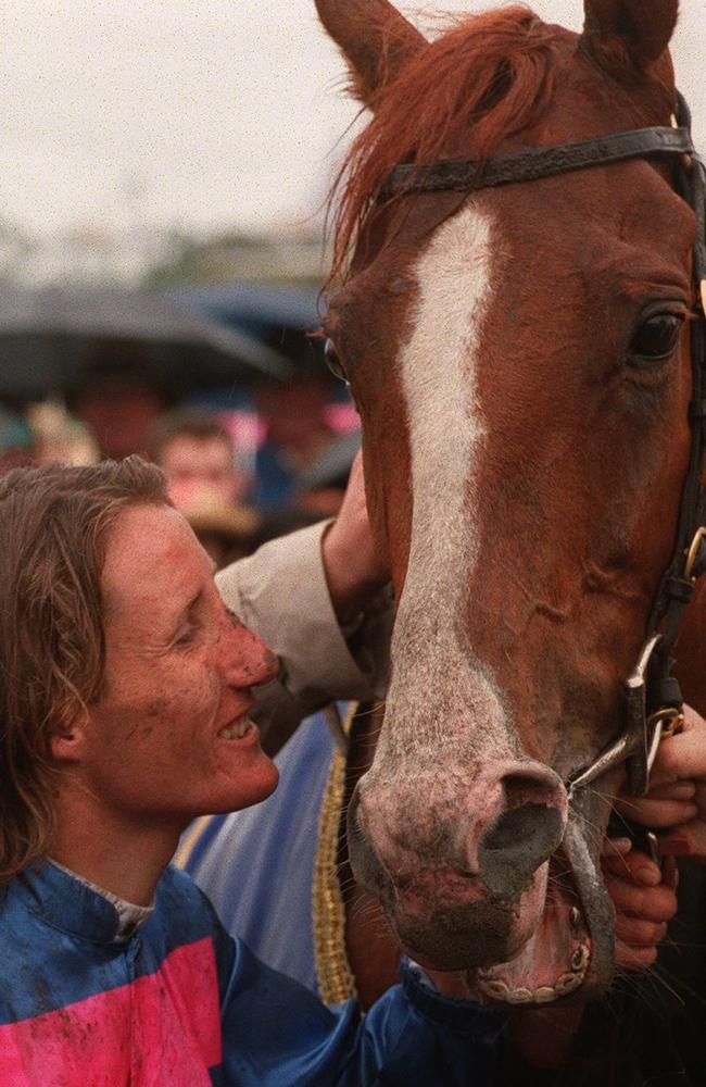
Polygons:
<instances>
[{"instance_id":1,"label":"gold braided trim along the edge of the blue cloth","mask_svg":"<svg viewBox=\"0 0 706 1087\"><path fill-rule=\"evenodd\" d=\"M353 703L343 724L346 736L357 711L358 705ZM345 755L337 749L319 813L312 891L316 978L326 1004L339 1004L357 996L345 948L345 903L336 866L344 794Z\"/></svg>"}]
</instances>

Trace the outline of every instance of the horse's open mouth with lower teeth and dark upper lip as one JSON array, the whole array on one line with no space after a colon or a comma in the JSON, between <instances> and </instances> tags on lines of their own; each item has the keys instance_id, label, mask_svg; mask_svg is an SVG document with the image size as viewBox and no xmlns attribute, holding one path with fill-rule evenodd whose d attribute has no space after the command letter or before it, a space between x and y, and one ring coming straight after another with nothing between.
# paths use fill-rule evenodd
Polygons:
<instances>
[{"instance_id":1,"label":"horse's open mouth with lower teeth and dark upper lip","mask_svg":"<svg viewBox=\"0 0 706 1087\"><path fill-rule=\"evenodd\" d=\"M513 902L447 872L417 874L414 887L388 884L380 896L398 938L421 966L465 973L479 1002L542 1005L610 983L613 905L580 819Z\"/></svg>"}]
</instances>

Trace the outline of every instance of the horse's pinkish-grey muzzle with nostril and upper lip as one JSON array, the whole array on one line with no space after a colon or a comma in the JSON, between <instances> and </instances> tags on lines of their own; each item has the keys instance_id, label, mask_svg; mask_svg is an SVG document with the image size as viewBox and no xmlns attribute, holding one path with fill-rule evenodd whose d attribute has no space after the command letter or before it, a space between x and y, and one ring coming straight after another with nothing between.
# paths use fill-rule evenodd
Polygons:
<instances>
[{"instance_id":1,"label":"horse's pinkish-grey muzzle with nostril and upper lip","mask_svg":"<svg viewBox=\"0 0 706 1087\"><path fill-rule=\"evenodd\" d=\"M351 864L411 952L443 969L453 948L454 969L487 965L530 935L566 819L560 779L529 760L487 763L463 796L374 773L349 809Z\"/></svg>"}]
</instances>

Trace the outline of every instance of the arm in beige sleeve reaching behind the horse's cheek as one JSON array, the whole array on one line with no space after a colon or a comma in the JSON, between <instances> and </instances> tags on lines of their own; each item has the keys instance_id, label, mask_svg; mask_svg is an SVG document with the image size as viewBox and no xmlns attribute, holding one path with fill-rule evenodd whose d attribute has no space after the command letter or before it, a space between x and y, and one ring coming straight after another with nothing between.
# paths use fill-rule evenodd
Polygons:
<instances>
[{"instance_id":1,"label":"arm in beige sleeve reaching behind the horse's cheek","mask_svg":"<svg viewBox=\"0 0 706 1087\"><path fill-rule=\"evenodd\" d=\"M270 540L216 583L281 661L278 679L255 691L253 715L270 753L314 710L384 696L392 604L373 548L360 458L336 521Z\"/></svg>"}]
</instances>

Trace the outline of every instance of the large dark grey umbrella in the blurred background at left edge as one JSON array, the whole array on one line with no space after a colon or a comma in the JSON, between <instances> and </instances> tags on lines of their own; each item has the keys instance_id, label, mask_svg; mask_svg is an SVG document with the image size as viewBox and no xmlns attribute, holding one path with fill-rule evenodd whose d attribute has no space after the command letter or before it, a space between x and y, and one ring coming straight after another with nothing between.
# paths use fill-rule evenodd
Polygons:
<instances>
[{"instance_id":1,"label":"large dark grey umbrella in the blurred background at left edge","mask_svg":"<svg viewBox=\"0 0 706 1087\"><path fill-rule=\"evenodd\" d=\"M99 349L119 359L122 347L175 397L286 380L292 370L252 336L151 292L0 287L0 398L63 392L90 374Z\"/></svg>"}]
</instances>

